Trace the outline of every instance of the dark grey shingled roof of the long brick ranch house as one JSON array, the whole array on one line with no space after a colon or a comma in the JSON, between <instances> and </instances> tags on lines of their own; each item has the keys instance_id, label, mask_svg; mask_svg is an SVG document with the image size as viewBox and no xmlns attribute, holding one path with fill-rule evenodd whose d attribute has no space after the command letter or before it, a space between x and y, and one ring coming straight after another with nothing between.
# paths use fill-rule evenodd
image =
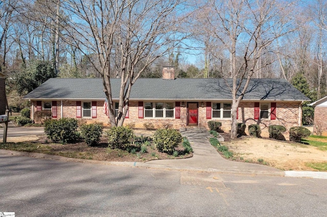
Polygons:
<instances>
[{"instance_id":1,"label":"dark grey shingled roof of the long brick ranch house","mask_svg":"<svg viewBox=\"0 0 327 217\"><path fill-rule=\"evenodd\" d=\"M119 98L120 82L118 78L111 79L113 99ZM130 100L231 100L229 87L232 79L139 78ZM99 78L50 78L24 99L104 100L103 89ZM285 79L251 79L243 100L310 101Z\"/></svg>"}]
</instances>

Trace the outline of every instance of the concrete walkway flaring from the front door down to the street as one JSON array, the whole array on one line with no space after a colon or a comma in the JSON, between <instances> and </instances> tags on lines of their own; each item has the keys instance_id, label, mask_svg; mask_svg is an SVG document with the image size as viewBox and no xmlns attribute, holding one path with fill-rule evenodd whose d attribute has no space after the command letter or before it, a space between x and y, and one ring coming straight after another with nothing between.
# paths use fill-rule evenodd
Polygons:
<instances>
[{"instance_id":1,"label":"concrete walkway flaring from the front door down to the street","mask_svg":"<svg viewBox=\"0 0 327 217\"><path fill-rule=\"evenodd\" d=\"M285 175L283 171L268 166L236 162L223 158L209 143L208 138L211 137L211 134L204 128L188 128L181 131L181 134L189 139L193 148L193 157L151 160L144 163L136 162L134 166L253 175Z\"/></svg>"}]
</instances>

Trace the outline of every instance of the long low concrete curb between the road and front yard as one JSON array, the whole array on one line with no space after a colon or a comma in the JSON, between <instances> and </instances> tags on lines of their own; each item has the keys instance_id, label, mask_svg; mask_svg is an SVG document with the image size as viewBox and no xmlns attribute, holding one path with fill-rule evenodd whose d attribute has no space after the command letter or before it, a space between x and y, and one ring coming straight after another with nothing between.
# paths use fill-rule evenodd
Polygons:
<instances>
[{"instance_id":1,"label":"long low concrete curb between the road and front yard","mask_svg":"<svg viewBox=\"0 0 327 217\"><path fill-rule=\"evenodd\" d=\"M20 152L0 149L0 154L27 156L51 160L60 160L67 162L82 162L87 164L102 164L120 167L135 167L135 168L148 168L148 169L165 169L165 170L178 170L178 171L201 171L201 172L215 172L224 174L240 174L240 175L262 175L262 176L285 176L297 178L320 178L327 179L327 172L311 172L311 171L254 171L254 170L235 170L235 169L216 169L216 168L196 168L196 167L178 167L178 166L164 166L158 164L147 164L147 162L126 162L126 161L100 161L62 157L58 155L43 154L36 152Z\"/></svg>"}]
</instances>

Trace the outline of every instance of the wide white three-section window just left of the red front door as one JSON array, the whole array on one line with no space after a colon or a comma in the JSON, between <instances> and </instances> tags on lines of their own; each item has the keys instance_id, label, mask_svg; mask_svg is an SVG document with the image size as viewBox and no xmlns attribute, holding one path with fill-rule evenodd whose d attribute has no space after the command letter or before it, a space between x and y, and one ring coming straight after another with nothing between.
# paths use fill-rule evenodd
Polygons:
<instances>
[{"instance_id":1,"label":"wide white three-section window just left of the red front door","mask_svg":"<svg viewBox=\"0 0 327 217\"><path fill-rule=\"evenodd\" d=\"M146 118L174 118L174 103L145 102L144 115Z\"/></svg>"}]
</instances>

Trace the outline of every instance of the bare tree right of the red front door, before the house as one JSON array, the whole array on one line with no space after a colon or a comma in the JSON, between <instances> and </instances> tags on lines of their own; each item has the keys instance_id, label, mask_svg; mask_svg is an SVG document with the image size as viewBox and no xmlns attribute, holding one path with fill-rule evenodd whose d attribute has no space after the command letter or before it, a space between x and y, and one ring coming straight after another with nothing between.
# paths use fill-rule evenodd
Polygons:
<instances>
[{"instance_id":1,"label":"bare tree right of the red front door, before the house","mask_svg":"<svg viewBox=\"0 0 327 217\"><path fill-rule=\"evenodd\" d=\"M252 75L270 63L258 62L276 39L292 31L288 16L294 2L276 0L209 1L202 9L209 12L207 29L229 53L232 78L231 138L237 137L237 108ZM227 84L227 83L226 83Z\"/></svg>"}]
</instances>

